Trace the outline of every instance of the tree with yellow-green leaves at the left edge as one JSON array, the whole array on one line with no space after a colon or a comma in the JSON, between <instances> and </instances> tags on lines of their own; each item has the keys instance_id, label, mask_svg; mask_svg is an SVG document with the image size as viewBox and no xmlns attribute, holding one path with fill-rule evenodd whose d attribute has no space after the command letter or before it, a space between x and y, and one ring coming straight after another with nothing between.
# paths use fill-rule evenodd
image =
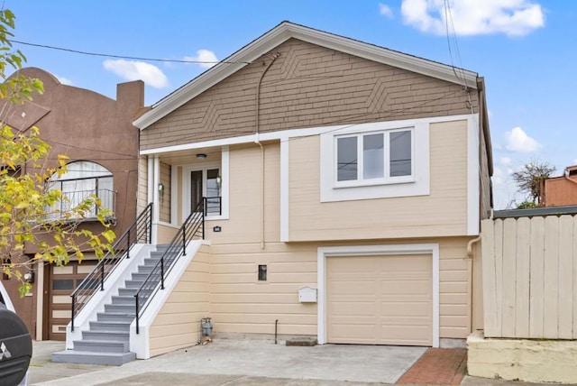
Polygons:
<instances>
[{"instance_id":1,"label":"tree with yellow-green leaves at the left edge","mask_svg":"<svg viewBox=\"0 0 577 386\"><path fill-rule=\"evenodd\" d=\"M50 164L50 145L41 140L40 130L32 127L19 132L6 122L11 107L32 100L34 93L42 92L38 79L25 78L17 72L7 78L5 70L22 68L26 61L21 51L14 51L10 38L14 36L14 14L0 10L0 258L2 273L20 280L21 295L31 289L23 280L36 262L66 264L72 255L78 260L83 251L90 249L102 258L111 251L114 232L106 223L110 215L96 196L71 203L62 191L50 185L56 176L67 171L67 157L59 155ZM66 211L57 205L68 201ZM94 213L104 226L100 233L79 229L79 221ZM30 258L26 250L34 247Z\"/></svg>"}]
</instances>

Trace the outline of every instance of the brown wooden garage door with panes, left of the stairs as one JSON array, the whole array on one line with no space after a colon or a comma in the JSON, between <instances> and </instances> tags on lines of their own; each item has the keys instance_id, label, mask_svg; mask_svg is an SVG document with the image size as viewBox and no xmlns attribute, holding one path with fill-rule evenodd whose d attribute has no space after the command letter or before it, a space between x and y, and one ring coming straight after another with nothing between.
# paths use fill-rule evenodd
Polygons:
<instances>
[{"instance_id":1,"label":"brown wooden garage door with panes, left of the stairs","mask_svg":"<svg viewBox=\"0 0 577 386\"><path fill-rule=\"evenodd\" d=\"M66 340L66 326L69 324L72 301L70 294L92 271L96 261L84 260L82 264L69 262L57 267L50 266L48 338L50 340Z\"/></svg>"}]
</instances>

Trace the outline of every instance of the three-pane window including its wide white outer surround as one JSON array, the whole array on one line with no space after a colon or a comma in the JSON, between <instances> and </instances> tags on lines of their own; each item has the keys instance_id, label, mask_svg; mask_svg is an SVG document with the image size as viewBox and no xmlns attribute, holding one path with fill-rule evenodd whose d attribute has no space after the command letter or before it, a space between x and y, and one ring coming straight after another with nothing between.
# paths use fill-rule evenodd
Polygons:
<instances>
[{"instance_id":1,"label":"three-pane window including its wide white outer surround","mask_svg":"<svg viewBox=\"0 0 577 386\"><path fill-rule=\"evenodd\" d=\"M426 120L353 124L320 137L321 202L429 194Z\"/></svg>"}]
</instances>

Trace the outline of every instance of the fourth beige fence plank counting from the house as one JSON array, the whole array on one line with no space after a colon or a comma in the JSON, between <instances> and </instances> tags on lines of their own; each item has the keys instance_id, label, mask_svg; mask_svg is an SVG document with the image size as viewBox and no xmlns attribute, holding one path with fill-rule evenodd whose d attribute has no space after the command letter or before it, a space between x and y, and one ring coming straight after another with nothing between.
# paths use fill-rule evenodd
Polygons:
<instances>
[{"instance_id":1,"label":"fourth beige fence plank counting from the house","mask_svg":"<svg viewBox=\"0 0 577 386\"><path fill-rule=\"evenodd\" d=\"M545 218L531 219L529 282L529 336L543 338Z\"/></svg>"}]
</instances>

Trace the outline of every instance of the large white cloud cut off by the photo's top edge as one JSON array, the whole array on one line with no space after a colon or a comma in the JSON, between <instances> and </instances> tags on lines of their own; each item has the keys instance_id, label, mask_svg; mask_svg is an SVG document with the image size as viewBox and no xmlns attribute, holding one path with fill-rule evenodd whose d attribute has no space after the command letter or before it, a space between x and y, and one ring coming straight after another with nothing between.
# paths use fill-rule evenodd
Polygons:
<instances>
[{"instance_id":1,"label":"large white cloud cut off by the photo's top edge","mask_svg":"<svg viewBox=\"0 0 577 386\"><path fill-rule=\"evenodd\" d=\"M422 32L446 33L445 14L450 32L457 35L505 33L522 36L545 25L541 5L532 0L403 0L405 23ZM450 14L448 13L450 10Z\"/></svg>"}]
</instances>

